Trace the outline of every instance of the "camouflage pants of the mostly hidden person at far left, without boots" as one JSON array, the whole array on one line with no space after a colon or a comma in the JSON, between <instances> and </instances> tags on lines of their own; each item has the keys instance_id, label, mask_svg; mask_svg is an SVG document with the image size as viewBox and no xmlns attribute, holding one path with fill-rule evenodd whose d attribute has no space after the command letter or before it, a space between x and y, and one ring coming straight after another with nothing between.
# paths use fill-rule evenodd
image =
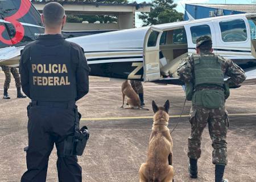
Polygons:
<instances>
[{"instance_id":1,"label":"camouflage pants of the mostly hidden person at far left, without boots","mask_svg":"<svg viewBox=\"0 0 256 182\"><path fill-rule=\"evenodd\" d=\"M20 76L17 68L13 67L6 67L6 66L1 66L2 71L5 72L5 84L3 85L4 89L9 89L10 87L10 82L11 82L11 74L13 74L13 77L15 79L15 84L16 88L20 88Z\"/></svg>"}]
</instances>

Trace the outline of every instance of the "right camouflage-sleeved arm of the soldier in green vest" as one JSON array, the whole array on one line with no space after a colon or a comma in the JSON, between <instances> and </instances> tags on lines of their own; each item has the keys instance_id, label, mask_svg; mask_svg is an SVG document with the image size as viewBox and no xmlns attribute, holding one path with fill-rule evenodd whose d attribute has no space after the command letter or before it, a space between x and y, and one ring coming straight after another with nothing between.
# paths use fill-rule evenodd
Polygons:
<instances>
[{"instance_id":1,"label":"right camouflage-sleeved arm of the soldier in green vest","mask_svg":"<svg viewBox=\"0 0 256 182\"><path fill-rule=\"evenodd\" d=\"M245 81L246 75L242 68L238 67L232 60L226 60L226 64L227 69L225 75L229 76L227 81L230 86L237 86Z\"/></svg>"}]
</instances>

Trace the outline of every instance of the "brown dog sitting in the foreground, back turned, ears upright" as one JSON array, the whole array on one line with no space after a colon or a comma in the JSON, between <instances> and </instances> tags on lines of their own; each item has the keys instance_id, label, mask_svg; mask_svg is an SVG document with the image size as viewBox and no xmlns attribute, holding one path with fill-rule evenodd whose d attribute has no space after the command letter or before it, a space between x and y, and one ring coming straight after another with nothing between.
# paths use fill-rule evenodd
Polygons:
<instances>
[{"instance_id":1,"label":"brown dog sitting in the foreground, back turned, ears upright","mask_svg":"<svg viewBox=\"0 0 256 182\"><path fill-rule=\"evenodd\" d=\"M163 107L152 102L154 123L148 145L146 163L139 169L140 182L171 182L174 181L172 167L172 138L168 129L170 103L167 100Z\"/></svg>"}]
</instances>

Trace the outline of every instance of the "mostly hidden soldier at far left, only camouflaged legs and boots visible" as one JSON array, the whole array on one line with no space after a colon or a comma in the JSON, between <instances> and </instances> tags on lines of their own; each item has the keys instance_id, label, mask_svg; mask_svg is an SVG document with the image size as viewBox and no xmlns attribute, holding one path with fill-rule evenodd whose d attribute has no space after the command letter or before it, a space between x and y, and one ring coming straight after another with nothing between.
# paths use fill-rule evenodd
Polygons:
<instances>
[{"instance_id":1,"label":"mostly hidden soldier at far left, only camouflaged legs and boots visible","mask_svg":"<svg viewBox=\"0 0 256 182\"><path fill-rule=\"evenodd\" d=\"M11 82L11 74L13 74L13 77L15 79L16 89L17 89L17 98L26 98L21 91L21 84L20 84L20 77L19 72L17 68L13 67L7 67L7 66L1 66L2 71L5 72L5 84L3 85L3 99L10 99L10 96L7 93L7 90L9 89L10 82Z\"/></svg>"}]
</instances>

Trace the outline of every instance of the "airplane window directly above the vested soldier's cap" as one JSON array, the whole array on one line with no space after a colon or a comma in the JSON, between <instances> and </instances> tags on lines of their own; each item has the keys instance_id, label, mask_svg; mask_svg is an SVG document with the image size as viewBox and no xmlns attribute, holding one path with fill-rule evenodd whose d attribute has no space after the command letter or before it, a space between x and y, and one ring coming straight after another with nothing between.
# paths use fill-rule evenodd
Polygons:
<instances>
[{"instance_id":1,"label":"airplane window directly above the vested soldier's cap","mask_svg":"<svg viewBox=\"0 0 256 182\"><path fill-rule=\"evenodd\" d=\"M200 38L200 36L209 36L212 37L212 33L210 32L210 27L207 24L202 24L199 26L190 27L192 42L196 44L196 40Z\"/></svg>"}]
</instances>

